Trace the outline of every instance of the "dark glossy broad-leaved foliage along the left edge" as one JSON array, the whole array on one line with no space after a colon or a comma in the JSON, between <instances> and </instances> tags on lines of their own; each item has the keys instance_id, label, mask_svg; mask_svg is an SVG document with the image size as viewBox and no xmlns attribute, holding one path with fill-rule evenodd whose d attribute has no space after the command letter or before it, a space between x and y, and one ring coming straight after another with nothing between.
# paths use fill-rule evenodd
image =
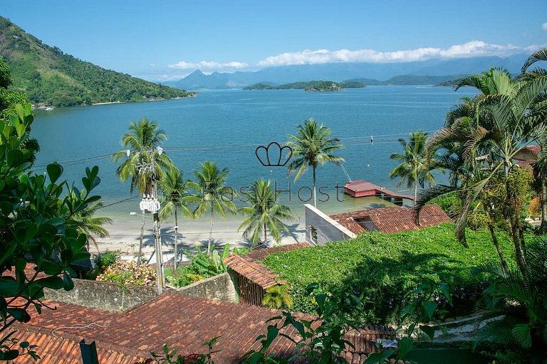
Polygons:
<instances>
[{"instance_id":1,"label":"dark glossy broad-leaved foliage along the left edge","mask_svg":"<svg viewBox=\"0 0 547 364\"><path fill-rule=\"evenodd\" d=\"M29 321L31 306L41 313L43 289L74 287L72 266L90 255L85 250L87 236L78 232L73 217L100 199L91 194L100 183L97 166L85 169L81 189L60 179L63 168L58 164L49 164L46 175L25 172L34 158L34 151L26 148L32 122L30 105L14 105L9 122L0 119L0 355L4 359L19 355L19 350L15 353L5 345L12 334L9 327ZM36 267L27 276L31 262ZM41 272L47 277L37 279Z\"/></svg>"}]
</instances>

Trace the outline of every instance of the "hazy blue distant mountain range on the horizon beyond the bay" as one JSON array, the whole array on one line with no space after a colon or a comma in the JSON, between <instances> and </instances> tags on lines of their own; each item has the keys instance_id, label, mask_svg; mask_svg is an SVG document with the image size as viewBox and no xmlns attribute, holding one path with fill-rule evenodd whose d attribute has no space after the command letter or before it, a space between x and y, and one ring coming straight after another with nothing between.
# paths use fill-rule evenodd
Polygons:
<instances>
[{"instance_id":1,"label":"hazy blue distant mountain range on the horizon beyond the bay","mask_svg":"<svg viewBox=\"0 0 547 364\"><path fill-rule=\"evenodd\" d=\"M182 80L165 82L184 90L222 90L243 88L256 83L286 84L313 80L358 80L366 85L436 85L502 67L520 73L528 54L507 58L477 57L451 60L425 60L406 63L325 63L322 65L287 65L264 68L255 72L212 73L200 70Z\"/></svg>"}]
</instances>

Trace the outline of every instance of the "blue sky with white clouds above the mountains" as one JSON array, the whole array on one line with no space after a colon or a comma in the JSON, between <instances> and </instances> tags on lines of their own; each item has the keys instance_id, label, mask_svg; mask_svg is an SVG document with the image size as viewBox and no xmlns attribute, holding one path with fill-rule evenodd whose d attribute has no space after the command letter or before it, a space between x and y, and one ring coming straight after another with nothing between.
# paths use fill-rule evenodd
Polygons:
<instances>
[{"instance_id":1,"label":"blue sky with white clouds above the mountains","mask_svg":"<svg viewBox=\"0 0 547 364\"><path fill-rule=\"evenodd\" d=\"M148 80L328 62L531 53L547 0L0 0L0 15L66 53Z\"/></svg>"}]
</instances>

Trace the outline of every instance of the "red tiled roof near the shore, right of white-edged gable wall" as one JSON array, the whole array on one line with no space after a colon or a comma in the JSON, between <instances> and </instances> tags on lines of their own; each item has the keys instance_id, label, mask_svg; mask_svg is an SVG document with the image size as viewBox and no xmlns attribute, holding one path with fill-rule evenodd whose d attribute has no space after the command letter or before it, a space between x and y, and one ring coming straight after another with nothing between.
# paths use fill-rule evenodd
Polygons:
<instances>
[{"instance_id":1,"label":"red tiled roof near the shore, right of white-edged gable wall","mask_svg":"<svg viewBox=\"0 0 547 364\"><path fill-rule=\"evenodd\" d=\"M381 232L400 232L435 226L450 221L449 216L438 205L425 205L420 212L420 225L415 222L416 214L412 208L373 208L351 213L330 215L330 218L359 234L367 229L360 222L370 221L375 230Z\"/></svg>"}]
</instances>

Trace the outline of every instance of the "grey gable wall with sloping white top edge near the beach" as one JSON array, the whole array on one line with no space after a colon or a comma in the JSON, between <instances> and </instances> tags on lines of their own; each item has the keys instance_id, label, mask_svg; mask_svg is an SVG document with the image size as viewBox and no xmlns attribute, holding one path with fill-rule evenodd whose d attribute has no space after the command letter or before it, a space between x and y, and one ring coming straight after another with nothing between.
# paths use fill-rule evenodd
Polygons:
<instances>
[{"instance_id":1,"label":"grey gable wall with sloping white top edge near the beach","mask_svg":"<svg viewBox=\"0 0 547 364\"><path fill-rule=\"evenodd\" d=\"M306 242L313 245L325 245L327 242L337 242L357 236L312 205L306 204L304 207L306 208Z\"/></svg>"}]
</instances>

